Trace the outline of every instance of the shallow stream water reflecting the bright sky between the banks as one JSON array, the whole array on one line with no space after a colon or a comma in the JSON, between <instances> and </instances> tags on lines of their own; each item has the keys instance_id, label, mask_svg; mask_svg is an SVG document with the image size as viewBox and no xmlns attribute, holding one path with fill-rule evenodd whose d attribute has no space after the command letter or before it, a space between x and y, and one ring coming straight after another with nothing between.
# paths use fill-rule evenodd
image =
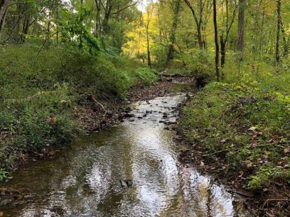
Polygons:
<instances>
[{"instance_id":1,"label":"shallow stream water reflecting the bright sky between the banks","mask_svg":"<svg viewBox=\"0 0 290 217\"><path fill-rule=\"evenodd\" d=\"M4 216L240 216L235 199L177 159L175 122L184 94L135 103L124 123L84 136L53 158L31 161L3 183L21 191ZM160 123L161 121L161 123ZM122 187L119 180L133 180Z\"/></svg>"}]
</instances>

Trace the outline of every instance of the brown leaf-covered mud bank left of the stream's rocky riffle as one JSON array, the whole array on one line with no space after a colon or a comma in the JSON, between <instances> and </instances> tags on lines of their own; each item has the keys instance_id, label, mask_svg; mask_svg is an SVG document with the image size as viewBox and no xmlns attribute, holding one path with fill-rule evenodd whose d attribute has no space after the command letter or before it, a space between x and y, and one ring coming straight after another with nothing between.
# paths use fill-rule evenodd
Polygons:
<instances>
[{"instance_id":1,"label":"brown leaf-covered mud bank left of the stream's rocky riffle","mask_svg":"<svg viewBox=\"0 0 290 217\"><path fill-rule=\"evenodd\" d=\"M128 106L136 101L145 101L157 96L164 96L175 92L171 87L174 81L190 82L188 77L164 77L152 87L137 85L126 94L124 102L108 102L88 97L86 104L75 111L75 117L80 123L80 128L86 132L98 132L99 130L112 127L122 121L128 114Z\"/></svg>"}]
</instances>

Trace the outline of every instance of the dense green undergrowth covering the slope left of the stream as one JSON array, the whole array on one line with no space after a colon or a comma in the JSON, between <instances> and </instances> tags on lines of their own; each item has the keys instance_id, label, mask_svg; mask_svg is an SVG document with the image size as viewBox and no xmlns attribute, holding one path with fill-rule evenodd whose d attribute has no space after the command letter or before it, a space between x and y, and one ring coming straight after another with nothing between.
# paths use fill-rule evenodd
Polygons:
<instances>
[{"instance_id":1,"label":"dense green undergrowth covering the slope left of the stream","mask_svg":"<svg viewBox=\"0 0 290 217\"><path fill-rule=\"evenodd\" d=\"M72 111L88 96L122 101L137 85L152 85L155 70L142 63L74 47L8 45L0 52L0 168L24 152L66 143L78 130ZM0 180L6 175L0 170Z\"/></svg>"}]
</instances>

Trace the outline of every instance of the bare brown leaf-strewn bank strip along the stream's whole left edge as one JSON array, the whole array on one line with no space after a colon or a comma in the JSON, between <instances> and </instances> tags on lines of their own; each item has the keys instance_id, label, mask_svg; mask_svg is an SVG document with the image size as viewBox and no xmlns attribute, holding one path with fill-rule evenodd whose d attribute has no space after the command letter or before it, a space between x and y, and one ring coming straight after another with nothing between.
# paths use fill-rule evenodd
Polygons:
<instances>
[{"instance_id":1,"label":"bare brown leaf-strewn bank strip along the stream's whole left edge","mask_svg":"<svg viewBox=\"0 0 290 217\"><path fill-rule=\"evenodd\" d=\"M190 80L190 78L185 77L179 77L176 79L180 81ZM46 143L46 145L41 144L41 146L34 147L32 149L27 149L25 145L13 149L7 149L5 146L3 146L1 147L3 150L0 149L0 169L4 168L9 172L15 171L21 165L25 165L26 162L31 159L33 161L38 161L42 158L54 156L57 152L60 152L61 149L66 149L66 144L74 139L77 139L77 137L81 134L99 132L100 130L117 125L120 123L120 121L122 121L124 116L126 116L126 112L128 112L126 107L128 107L130 103L139 100L153 99L156 96L163 96L164 94L171 92L170 87L174 85L171 81L172 79L170 77L161 78L156 85L151 87L147 87L146 85L139 83L139 85L135 85L135 87L133 87L133 89L128 92L125 101L119 101L116 99L97 99L92 95L84 94L81 101L77 102L78 105L76 105L73 109L70 109L72 113L72 119L76 125L74 124L74 130L71 130L72 132L70 132L70 135L67 136L67 138L57 139L57 143L43 141L43 143ZM68 107L70 107L70 105L68 105ZM58 117L55 116L49 116L47 122L51 125L57 125L55 121L57 118ZM68 125L70 125L70 122L67 122ZM30 129L30 131L32 131L32 135L36 134L36 132L33 132L34 129ZM1 132L0 143L5 144L9 141L13 142L16 140L14 138L16 136L17 133L8 134L8 130L7 132ZM48 135L46 136L48 137ZM5 171L3 171L3 173L4 176L8 176L8 179L10 178L8 173ZM1 178L2 177L0 173L0 180Z\"/></svg>"}]
</instances>

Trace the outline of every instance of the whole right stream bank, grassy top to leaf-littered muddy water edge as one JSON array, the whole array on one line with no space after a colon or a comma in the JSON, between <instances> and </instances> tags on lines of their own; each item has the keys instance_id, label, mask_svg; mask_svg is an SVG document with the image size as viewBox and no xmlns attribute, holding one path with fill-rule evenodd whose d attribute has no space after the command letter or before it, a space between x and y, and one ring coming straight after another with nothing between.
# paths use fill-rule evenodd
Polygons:
<instances>
[{"instance_id":1,"label":"whole right stream bank, grassy top to leaf-littered muddy water edge","mask_svg":"<svg viewBox=\"0 0 290 217\"><path fill-rule=\"evenodd\" d=\"M194 94L178 119L180 161L242 196L253 216L289 216L289 111L261 90L210 83Z\"/></svg>"}]
</instances>

